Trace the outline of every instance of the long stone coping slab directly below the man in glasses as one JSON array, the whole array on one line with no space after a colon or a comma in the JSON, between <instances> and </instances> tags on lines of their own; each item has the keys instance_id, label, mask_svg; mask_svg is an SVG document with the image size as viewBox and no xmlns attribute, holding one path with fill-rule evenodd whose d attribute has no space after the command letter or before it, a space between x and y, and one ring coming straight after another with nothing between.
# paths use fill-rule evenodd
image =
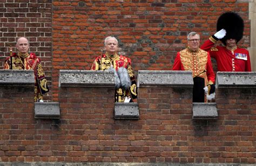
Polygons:
<instances>
[{"instance_id":1,"label":"long stone coping slab directly below the man in glasses","mask_svg":"<svg viewBox=\"0 0 256 166\"><path fill-rule=\"evenodd\" d=\"M193 88L192 71L138 71L138 87Z\"/></svg>"}]
</instances>

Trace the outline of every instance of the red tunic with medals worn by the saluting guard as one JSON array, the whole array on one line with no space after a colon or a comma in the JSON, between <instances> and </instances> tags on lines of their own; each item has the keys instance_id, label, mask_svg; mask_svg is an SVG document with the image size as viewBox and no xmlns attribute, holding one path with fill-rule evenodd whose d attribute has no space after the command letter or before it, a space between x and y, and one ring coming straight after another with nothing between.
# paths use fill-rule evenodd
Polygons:
<instances>
[{"instance_id":1,"label":"red tunic with medals worn by the saluting guard","mask_svg":"<svg viewBox=\"0 0 256 166\"><path fill-rule=\"evenodd\" d=\"M220 72L251 72L251 61L248 50L237 47L231 51L223 46L213 47L217 42L210 37L201 45L201 49L210 53L210 56L217 61Z\"/></svg>"}]
</instances>

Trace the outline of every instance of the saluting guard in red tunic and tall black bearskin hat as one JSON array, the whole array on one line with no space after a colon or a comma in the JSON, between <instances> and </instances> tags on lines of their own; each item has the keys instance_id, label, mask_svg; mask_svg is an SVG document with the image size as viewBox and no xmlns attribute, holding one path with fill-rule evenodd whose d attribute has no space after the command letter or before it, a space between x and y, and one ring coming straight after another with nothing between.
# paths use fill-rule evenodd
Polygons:
<instances>
[{"instance_id":1,"label":"saluting guard in red tunic and tall black bearskin hat","mask_svg":"<svg viewBox=\"0 0 256 166\"><path fill-rule=\"evenodd\" d=\"M218 71L251 72L248 50L237 47L244 31L242 18L234 12L224 13L218 19L217 31L201 45L201 49L208 51L216 59ZM219 39L225 46L214 47Z\"/></svg>"}]
</instances>

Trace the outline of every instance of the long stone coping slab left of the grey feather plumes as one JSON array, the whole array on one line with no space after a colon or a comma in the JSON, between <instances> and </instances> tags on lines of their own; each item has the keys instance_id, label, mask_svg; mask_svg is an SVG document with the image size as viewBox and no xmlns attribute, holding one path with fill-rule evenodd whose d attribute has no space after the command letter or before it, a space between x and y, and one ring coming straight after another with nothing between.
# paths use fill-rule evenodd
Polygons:
<instances>
[{"instance_id":1,"label":"long stone coping slab left of the grey feather plumes","mask_svg":"<svg viewBox=\"0 0 256 166\"><path fill-rule=\"evenodd\" d=\"M114 87L114 84L112 71L59 71L59 87Z\"/></svg>"}]
</instances>

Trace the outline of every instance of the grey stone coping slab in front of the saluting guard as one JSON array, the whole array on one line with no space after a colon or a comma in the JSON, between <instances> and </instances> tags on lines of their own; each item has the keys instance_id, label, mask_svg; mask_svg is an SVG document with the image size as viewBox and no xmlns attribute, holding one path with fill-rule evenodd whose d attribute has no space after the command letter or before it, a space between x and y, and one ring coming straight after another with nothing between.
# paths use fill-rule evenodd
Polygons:
<instances>
[{"instance_id":1,"label":"grey stone coping slab in front of the saluting guard","mask_svg":"<svg viewBox=\"0 0 256 166\"><path fill-rule=\"evenodd\" d=\"M256 72L217 72L216 88L256 88Z\"/></svg>"}]
</instances>

